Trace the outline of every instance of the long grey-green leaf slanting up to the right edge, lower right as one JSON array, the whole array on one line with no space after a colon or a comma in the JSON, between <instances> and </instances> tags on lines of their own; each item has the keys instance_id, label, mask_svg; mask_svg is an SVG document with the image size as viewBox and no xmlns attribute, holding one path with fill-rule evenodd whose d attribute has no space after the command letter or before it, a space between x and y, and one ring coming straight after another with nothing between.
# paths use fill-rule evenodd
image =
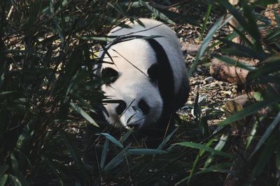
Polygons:
<instances>
[{"instance_id":1,"label":"long grey-green leaf slanting up to the right edge, lower right","mask_svg":"<svg viewBox=\"0 0 280 186\"><path fill-rule=\"evenodd\" d=\"M267 130L265 130L265 134L262 134L262 137L260 138L260 141L258 141L258 144L255 146L255 149L253 150L253 153L251 153L251 157L258 151L258 149L265 144L265 141L270 137L273 130L280 124L280 112L277 114L277 116L274 118L274 121L267 127Z\"/></svg>"}]
</instances>

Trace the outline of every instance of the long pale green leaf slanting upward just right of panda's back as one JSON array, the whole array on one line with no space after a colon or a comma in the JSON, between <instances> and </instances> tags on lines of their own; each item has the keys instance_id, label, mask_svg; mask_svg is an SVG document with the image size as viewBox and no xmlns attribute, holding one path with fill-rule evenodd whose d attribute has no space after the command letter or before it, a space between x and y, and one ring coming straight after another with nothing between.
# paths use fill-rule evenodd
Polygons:
<instances>
[{"instance_id":1,"label":"long pale green leaf slanting upward just right of panda's back","mask_svg":"<svg viewBox=\"0 0 280 186\"><path fill-rule=\"evenodd\" d=\"M190 71L188 72L189 77L193 74L193 71L195 70L198 61L200 60L200 58L202 57L202 55L206 51L207 47L209 46L209 44L210 44L210 42L211 42L211 40L214 36L214 33L216 33L216 31L220 28L222 22L223 22L223 16L220 17L216 21L216 23L212 26L212 28L207 33L207 36L204 38L204 41L202 42L202 45L197 52L197 56L195 57L195 61L193 62L193 65L191 65L191 67L190 67Z\"/></svg>"}]
</instances>

